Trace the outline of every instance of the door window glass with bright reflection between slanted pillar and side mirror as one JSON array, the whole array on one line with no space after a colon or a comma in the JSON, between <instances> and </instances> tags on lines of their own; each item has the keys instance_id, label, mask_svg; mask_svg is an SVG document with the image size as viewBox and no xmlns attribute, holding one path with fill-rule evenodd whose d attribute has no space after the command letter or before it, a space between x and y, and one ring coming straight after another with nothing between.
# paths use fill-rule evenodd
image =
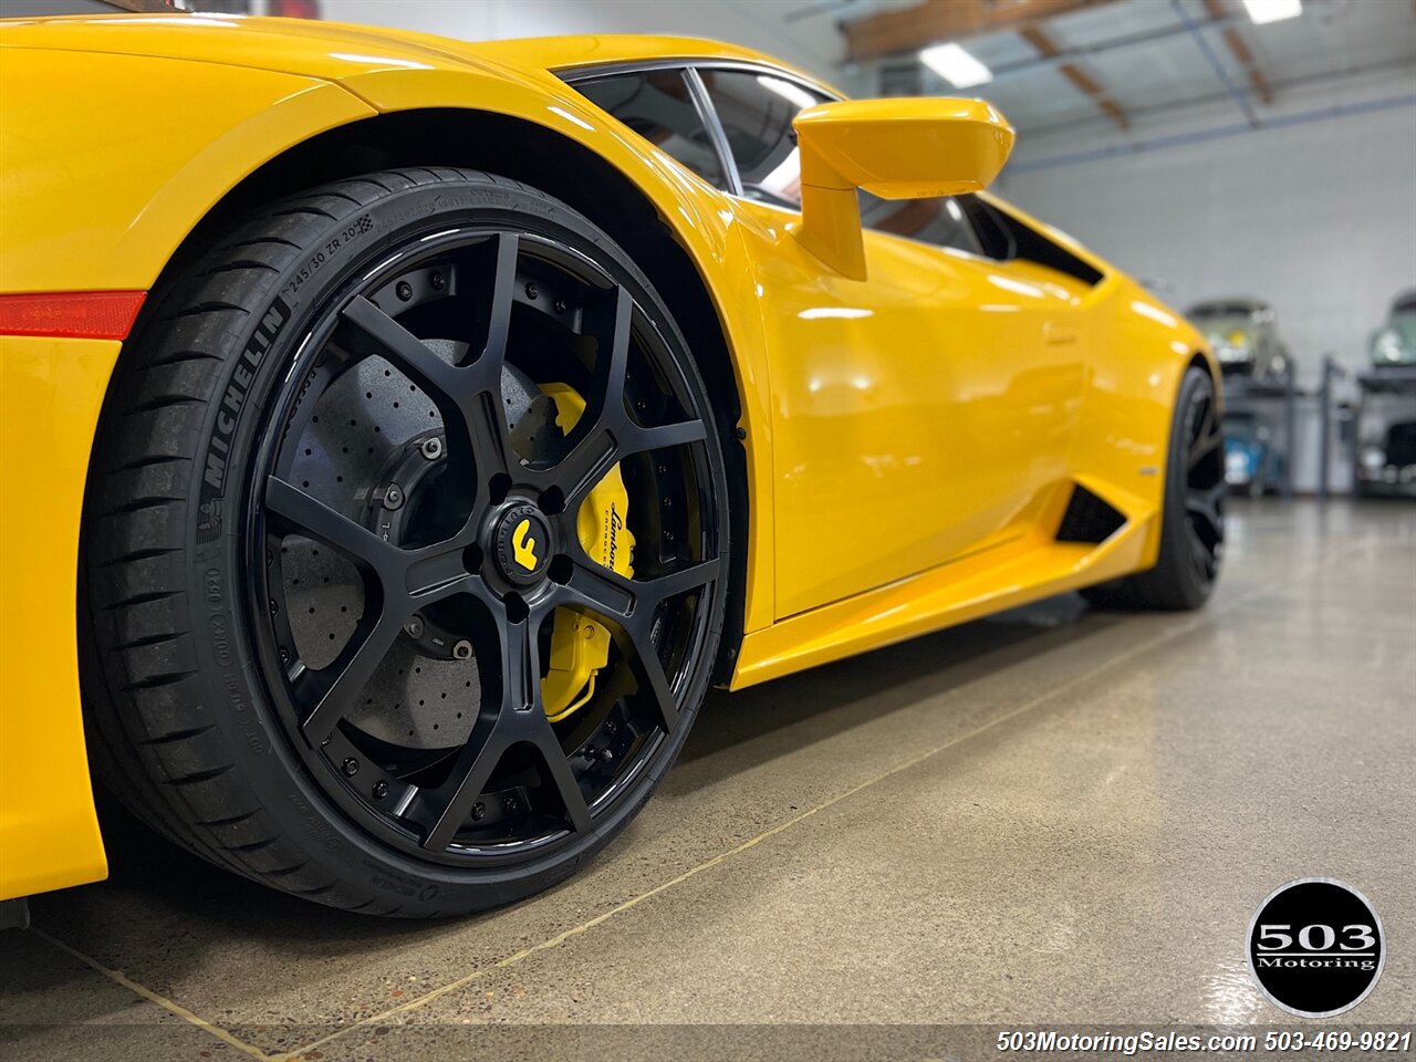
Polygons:
<instances>
[{"instance_id":1,"label":"door window glass with bright reflection between slanted pillar and side mirror","mask_svg":"<svg viewBox=\"0 0 1416 1062\"><path fill-rule=\"evenodd\" d=\"M742 194L779 207L801 207L801 163L792 120L823 96L769 74L700 69L728 137Z\"/></svg>"}]
</instances>

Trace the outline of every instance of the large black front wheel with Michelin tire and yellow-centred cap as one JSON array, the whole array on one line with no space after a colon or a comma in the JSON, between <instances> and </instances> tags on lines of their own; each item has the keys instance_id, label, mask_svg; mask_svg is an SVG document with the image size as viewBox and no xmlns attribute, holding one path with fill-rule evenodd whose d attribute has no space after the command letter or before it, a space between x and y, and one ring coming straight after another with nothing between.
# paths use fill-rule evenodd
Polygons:
<instances>
[{"instance_id":1,"label":"large black front wheel with Michelin tire and yellow-centred cap","mask_svg":"<svg viewBox=\"0 0 1416 1062\"><path fill-rule=\"evenodd\" d=\"M707 391L609 236L520 184L276 204L159 293L86 508L105 782L207 858L426 916L568 875L708 684Z\"/></svg>"}]
</instances>

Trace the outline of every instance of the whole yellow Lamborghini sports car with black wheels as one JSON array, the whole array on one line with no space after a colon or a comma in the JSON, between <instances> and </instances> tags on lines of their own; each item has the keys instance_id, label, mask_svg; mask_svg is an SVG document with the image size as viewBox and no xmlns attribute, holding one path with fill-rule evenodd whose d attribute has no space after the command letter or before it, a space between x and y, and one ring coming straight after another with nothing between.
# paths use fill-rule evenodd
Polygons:
<instances>
[{"instance_id":1,"label":"whole yellow Lamborghini sports car with black wheels","mask_svg":"<svg viewBox=\"0 0 1416 1062\"><path fill-rule=\"evenodd\" d=\"M0 898L103 877L92 766L321 903L506 903L709 684L1214 585L1216 365L983 193L987 103L171 14L0 23Z\"/></svg>"}]
</instances>

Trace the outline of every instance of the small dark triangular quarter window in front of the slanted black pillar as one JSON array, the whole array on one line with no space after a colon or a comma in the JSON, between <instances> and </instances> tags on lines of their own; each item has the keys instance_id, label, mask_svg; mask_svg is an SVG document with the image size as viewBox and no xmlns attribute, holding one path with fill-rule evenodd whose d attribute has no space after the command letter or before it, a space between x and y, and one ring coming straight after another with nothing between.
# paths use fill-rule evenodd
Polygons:
<instances>
[{"instance_id":1,"label":"small dark triangular quarter window in front of the slanted black pillar","mask_svg":"<svg viewBox=\"0 0 1416 1062\"><path fill-rule=\"evenodd\" d=\"M681 71L617 74L576 82L575 89L705 181L725 187L718 150Z\"/></svg>"}]
</instances>

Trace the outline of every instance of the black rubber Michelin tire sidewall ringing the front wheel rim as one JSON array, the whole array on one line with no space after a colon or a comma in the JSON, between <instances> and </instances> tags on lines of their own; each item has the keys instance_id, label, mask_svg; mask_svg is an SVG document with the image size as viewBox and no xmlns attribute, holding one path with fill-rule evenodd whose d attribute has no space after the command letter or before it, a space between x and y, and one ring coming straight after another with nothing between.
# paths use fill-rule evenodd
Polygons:
<instances>
[{"instance_id":1,"label":"black rubber Michelin tire sidewall ringing the front wheel rim","mask_svg":"<svg viewBox=\"0 0 1416 1062\"><path fill-rule=\"evenodd\" d=\"M333 219L317 245L304 246L292 266L272 278L263 304L251 313L229 348L200 432L184 537L190 551L190 630L210 707L235 769L278 830L333 877L387 896L405 915L449 913L520 899L565 878L603 847L636 814L677 756L707 692L715 654L691 661L680 726L603 821L530 862L459 868L418 861L365 833L307 773L312 766L329 765L307 765L293 748L256 663L249 626L256 585L245 551L253 534L252 473L261 463L266 418L287 374L307 358L302 340L331 312L331 297L377 263L381 253L435 228L469 222L554 236L592 256L629 287L653 319L701 404L698 412L712 422L708 392L688 346L647 278L582 215L524 187L462 178L381 195ZM719 555L728 556L728 491L716 430L708 433L707 450L718 496ZM715 588L708 620L714 650L725 595L724 579Z\"/></svg>"}]
</instances>

